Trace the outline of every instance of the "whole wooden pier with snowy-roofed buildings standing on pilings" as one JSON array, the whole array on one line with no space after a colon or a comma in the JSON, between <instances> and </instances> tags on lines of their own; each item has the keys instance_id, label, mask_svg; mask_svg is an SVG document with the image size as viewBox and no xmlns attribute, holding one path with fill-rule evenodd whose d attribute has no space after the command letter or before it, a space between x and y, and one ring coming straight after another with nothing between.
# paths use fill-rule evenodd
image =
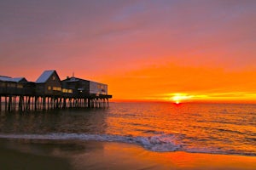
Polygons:
<instances>
[{"instance_id":1,"label":"whole wooden pier with snowy-roofed buildings standing on pilings","mask_svg":"<svg viewBox=\"0 0 256 170\"><path fill-rule=\"evenodd\" d=\"M56 71L44 71L36 82L0 77L0 111L46 111L109 107L108 85L77 77L61 81Z\"/></svg>"}]
</instances>

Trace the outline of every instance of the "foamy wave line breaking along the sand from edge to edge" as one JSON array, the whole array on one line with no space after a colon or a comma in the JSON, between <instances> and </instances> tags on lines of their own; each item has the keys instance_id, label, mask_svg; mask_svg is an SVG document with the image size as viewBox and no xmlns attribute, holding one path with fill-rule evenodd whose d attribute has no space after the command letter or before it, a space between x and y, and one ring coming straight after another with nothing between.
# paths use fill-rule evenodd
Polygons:
<instances>
[{"instance_id":1,"label":"foamy wave line breaking along the sand from edge to edge","mask_svg":"<svg viewBox=\"0 0 256 170\"><path fill-rule=\"evenodd\" d=\"M127 144L138 144L146 150L155 152L186 151L191 153L209 153L226 155L256 156L255 153L247 153L236 150L221 150L214 147L196 147L187 144L177 143L177 136L174 134L161 134L149 137L142 136L120 136L113 134L88 134L88 133L48 133L48 134L1 134L0 139L49 139L68 140L78 139L84 141L120 142Z\"/></svg>"}]
</instances>

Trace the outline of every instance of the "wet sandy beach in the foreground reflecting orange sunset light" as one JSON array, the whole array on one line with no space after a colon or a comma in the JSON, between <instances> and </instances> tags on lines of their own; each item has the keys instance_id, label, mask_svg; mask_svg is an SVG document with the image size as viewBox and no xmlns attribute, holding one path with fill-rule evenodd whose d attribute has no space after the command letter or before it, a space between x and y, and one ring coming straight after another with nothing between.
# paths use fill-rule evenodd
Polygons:
<instances>
[{"instance_id":1,"label":"wet sandy beach in the foreground reflecting orange sunset light","mask_svg":"<svg viewBox=\"0 0 256 170\"><path fill-rule=\"evenodd\" d=\"M134 144L0 139L1 169L256 169L255 156L157 153Z\"/></svg>"}]
</instances>

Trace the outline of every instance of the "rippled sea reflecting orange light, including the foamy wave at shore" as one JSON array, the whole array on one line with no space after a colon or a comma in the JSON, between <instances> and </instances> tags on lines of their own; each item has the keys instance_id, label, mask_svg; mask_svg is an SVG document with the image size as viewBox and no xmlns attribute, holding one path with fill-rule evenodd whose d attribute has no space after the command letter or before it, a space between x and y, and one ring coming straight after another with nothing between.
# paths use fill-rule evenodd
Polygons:
<instances>
[{"instance_id":1,"label":"rippled sea reflecting orange light, including the foamy wave at shore","mask_svg":"<svg viewBox=\"0 0 256 170\"><path fill-rule=\"evenodd\" d=\"M113 141L155 152L256 156L256 105L111 103L105 109L1 112L0 138Z\"/></svg>"}]
</instances>

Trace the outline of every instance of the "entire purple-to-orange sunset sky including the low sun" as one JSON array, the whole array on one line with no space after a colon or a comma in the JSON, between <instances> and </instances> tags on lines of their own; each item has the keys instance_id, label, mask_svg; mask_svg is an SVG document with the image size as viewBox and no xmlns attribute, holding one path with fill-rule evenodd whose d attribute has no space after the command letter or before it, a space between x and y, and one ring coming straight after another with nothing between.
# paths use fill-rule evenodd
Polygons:
<instances>
[{"instance_id":1,"label":"entire purple-to-orange sunset sky including the low sun","mask_svg":"<svg viewBox=\"0 0 256 170\"><path fill-rule=\"evenodd\" d=\"M254 0L1 0L0 75L108 84L113 101L256 103Z\"/></svg>"}]
</instances>

